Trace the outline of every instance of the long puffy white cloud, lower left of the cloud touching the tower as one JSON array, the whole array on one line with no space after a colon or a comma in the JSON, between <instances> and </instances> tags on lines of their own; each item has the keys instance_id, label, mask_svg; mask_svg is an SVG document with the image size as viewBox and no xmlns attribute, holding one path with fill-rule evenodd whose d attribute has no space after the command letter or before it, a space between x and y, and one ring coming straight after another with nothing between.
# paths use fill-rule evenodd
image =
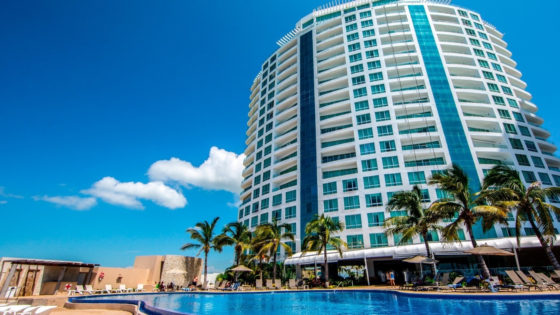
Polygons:
<instances>
[{"instance_id":1,"label":"long puffy white cloud, lower left of the cloud touching the tower","mask_svg":"<svg viewBox=\"0 0 560 315\"><path fill-rule=\"evenodd\" d=\"M150 200L169 209L182 208L186 205L186 198L180 192L165 186L162 182L121 183L113 177L104 177L92 184L91 188L80 191L101 200L132 209L144 209L139 199Z\"/></svg>"}]
</instances>

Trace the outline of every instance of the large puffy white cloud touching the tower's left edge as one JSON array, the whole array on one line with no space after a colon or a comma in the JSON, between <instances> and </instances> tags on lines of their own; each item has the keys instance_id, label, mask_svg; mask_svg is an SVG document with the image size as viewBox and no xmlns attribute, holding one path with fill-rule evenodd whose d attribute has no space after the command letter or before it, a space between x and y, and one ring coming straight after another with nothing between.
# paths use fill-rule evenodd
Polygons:
<instances>
[{"instance_id":1,"label":"large puffy white cloud touching the tower's left edge","mask_svg":"<svg viewBox=\"0 0 560 315\"><path fill-rule=\"evenodd\" d=\"M151 180L238 194L241 189L243 159L244 154L237 155L214 146L210 149L208 159L198 167L187 161L171 158L153 163L148 169L148 176Z\"/></svg>"}]
</instances>

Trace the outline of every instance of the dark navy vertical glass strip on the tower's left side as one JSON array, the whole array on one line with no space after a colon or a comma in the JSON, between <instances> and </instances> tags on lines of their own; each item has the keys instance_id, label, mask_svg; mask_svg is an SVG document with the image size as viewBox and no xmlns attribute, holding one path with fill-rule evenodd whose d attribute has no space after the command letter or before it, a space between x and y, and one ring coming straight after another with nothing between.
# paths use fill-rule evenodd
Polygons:
<instances>
[{"instance_id":1,"label":"dark navy vertical glass strip on the tower's left side","mask_svg":"<svg viewBox=\"0 0 560 315\"><path fill-rule=\"evenodd\" d=\"M300 227L319 213L313 31L300 36Z\"/></svg>"}]
</instances>

